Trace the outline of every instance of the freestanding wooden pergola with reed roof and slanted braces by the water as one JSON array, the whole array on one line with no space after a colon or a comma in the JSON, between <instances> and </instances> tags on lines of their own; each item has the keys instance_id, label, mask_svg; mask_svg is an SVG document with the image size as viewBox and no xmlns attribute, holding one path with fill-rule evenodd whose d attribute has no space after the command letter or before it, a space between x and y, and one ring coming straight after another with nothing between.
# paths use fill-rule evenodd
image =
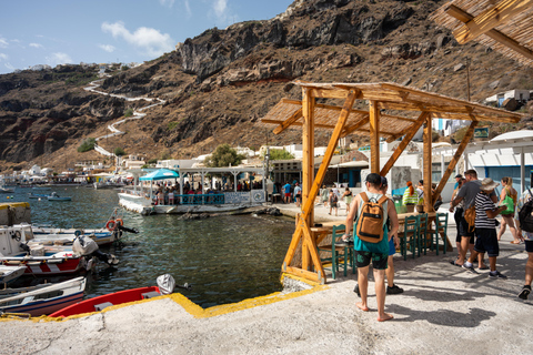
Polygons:
<instances>
[{"instance_id":1,"label":"freestanding wooden pergola with reed roof and slanted braces by the water","mask_svg":"<svg viewBox=\"0 0 533 355\"><path fill-rule=\"evenodd\" d=\"M296 220L296 229L283 261L282 271L320 283L325 283L325 274L316 251L316 241L311 231L314 226L314 200L340 138L349 134L370 136L371 172L384 176L414 134L421 126L424 126L424 195L432 196L432 199L425 199L425 211L432 212L434 201L473 136L477 122L517 123L522 118L519 113L394 83L310 83L301 81L294 83L302 89L302 101L281 100L261 120L260 124L276 125L273 131L275 134L280 134L289 128L302 129L302 214ZM320 99L321 103L318 103L316 99ZM363 105L368 104L369 110L354 109L356 101ZM335 104L339 102L342 102L342 105ZM399 112L402 114L399 115ZM471 121L435 194L431 192L431 123L433 118ZM315 130L332 131L316 175L313 164ZM402 142L381 168L380 140L386 138L389 141L394 141L401 136L403 136ZM302 247L301 265L291 265L299 245Z\"/></svg>"}]
</instances>

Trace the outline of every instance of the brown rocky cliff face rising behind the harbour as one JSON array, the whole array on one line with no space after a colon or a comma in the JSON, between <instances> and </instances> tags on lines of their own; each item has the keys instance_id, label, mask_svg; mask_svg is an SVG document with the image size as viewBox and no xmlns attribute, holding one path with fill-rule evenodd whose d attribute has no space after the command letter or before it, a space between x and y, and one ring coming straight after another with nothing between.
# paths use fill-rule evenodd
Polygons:
<instances>
[{"instance_id":1,"label":"brown rocky cliff face rising behind the harbour","mask_svg":"<svg viewBox=\"0 0 533 355\"><path fill-rule=\"evenodd\" d=\"M298 0L274 19L208 30L103 81L101 89L109 93L167 103L101 145L150 159L208 153L221 143L300 142L298 132L272 136L254 126L281 98L301 98L290 83L295 79L392 81L464 99L465 69L457 64L470 58L473 100L533 89L532 70L475 43L460 47L430 22L428 16L444 2ZM40 156L50 165L63 161L60 156L84 160L87 153L76 153L83 139L105 134L107 122L141 105L84 91L83 82L95 71L69 65L0 75L0 160ZM316 144L326 139L319 133Z\"/></svg>"}]
</instances>

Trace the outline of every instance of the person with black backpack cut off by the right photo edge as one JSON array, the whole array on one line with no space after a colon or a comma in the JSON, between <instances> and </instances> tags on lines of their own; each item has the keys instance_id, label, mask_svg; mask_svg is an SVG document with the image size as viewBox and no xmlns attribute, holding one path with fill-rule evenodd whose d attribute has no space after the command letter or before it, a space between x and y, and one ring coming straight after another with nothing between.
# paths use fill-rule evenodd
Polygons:
<instances>
[{"instance_id":1,"label":"person with black backpack cut off by the right photo edge","mask_svg":"<svg viewBox=\"0 0 533 355\"><path fill-rule=\"evenodd\" d=\"M521 300L527 300L533 280L533 193L530 189L524 191L516 203L516 220L519 237L525 241L527 262L525 264L525 283L519 293Z\"/></svg>"}]
</instances>

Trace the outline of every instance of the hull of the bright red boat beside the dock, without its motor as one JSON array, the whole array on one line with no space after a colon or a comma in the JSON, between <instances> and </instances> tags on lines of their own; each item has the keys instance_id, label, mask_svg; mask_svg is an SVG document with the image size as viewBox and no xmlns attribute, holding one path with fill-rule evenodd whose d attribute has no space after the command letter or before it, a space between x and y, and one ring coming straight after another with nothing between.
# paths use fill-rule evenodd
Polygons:
<instances>
[{"instance_id":1,"label":"hull of the bright red boat beside the dock, without its motor","mask_svg":"<svg viewBox=\"0 0 533 355\"><path fill-rule=\"evenodd\" d=\"M59 310L52 314L51 317L68 317L71 315L100 312L107 307L118 304L124 304L135 301L142 301L151 297L160 296L158 286L140 287L133 290L124 290L94 298L84 300L77 304L70 305Z\"/></svg>"}]
</instances>

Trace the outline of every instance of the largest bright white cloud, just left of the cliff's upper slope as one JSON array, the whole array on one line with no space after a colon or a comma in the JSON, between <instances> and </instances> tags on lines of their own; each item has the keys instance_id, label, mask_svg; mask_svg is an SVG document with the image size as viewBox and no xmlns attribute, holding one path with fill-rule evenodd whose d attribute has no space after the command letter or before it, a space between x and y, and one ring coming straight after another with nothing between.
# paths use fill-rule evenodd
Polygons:
<instances>
[{"instance_id":1,"label":"largest bright white cloud, just left of the cliff's upper slope","mask_svg":"<svg viewBox=\"0 0 533 355\"><path fill-rule=\"evenodd\" d=\"M163 34L159 30L147 27L140 27L134 32L130 32L123 22L103 22L102 31L111 33L115 39L125 40L151 57L158 57L174 49L174 40L170 34Z\"/></svg>"}]
</instances>

